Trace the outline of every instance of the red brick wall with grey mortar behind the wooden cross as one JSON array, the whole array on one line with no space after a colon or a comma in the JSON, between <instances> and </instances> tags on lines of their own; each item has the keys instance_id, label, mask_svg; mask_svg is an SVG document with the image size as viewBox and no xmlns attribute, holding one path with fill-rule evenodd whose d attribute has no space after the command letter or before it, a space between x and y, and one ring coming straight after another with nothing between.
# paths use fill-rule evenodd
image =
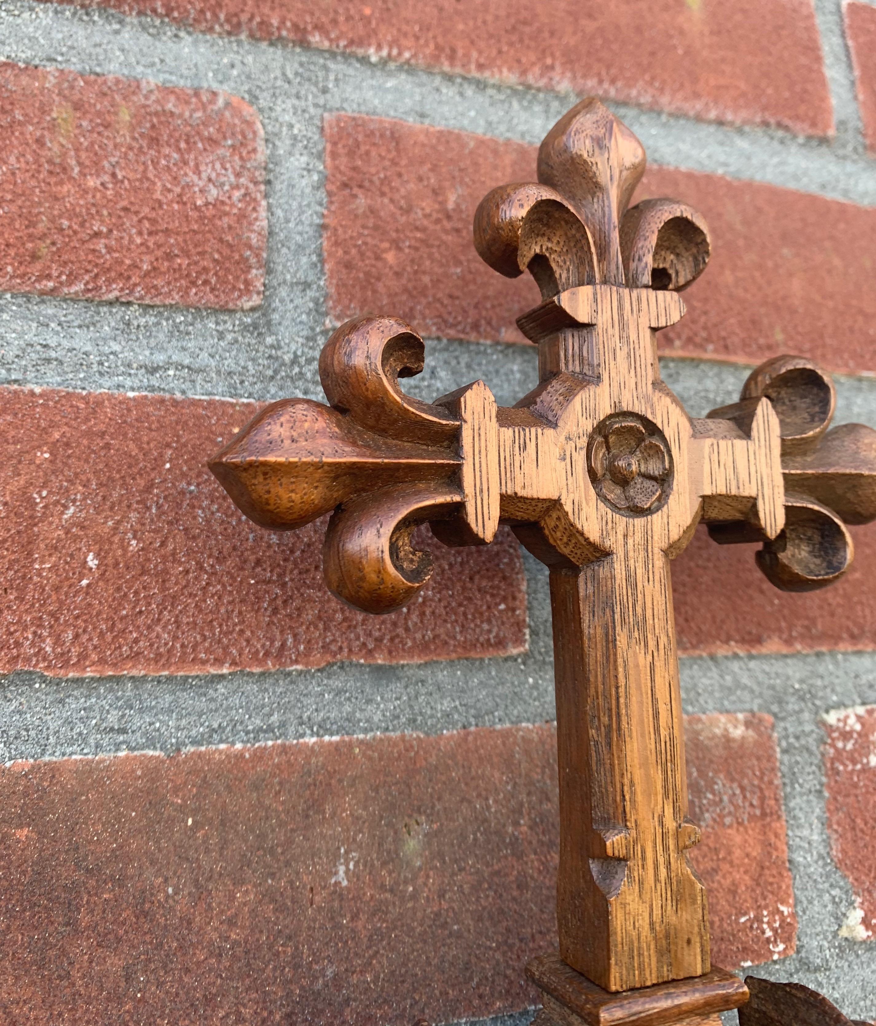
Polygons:
<instances>
[{"instance_id":1,"label":"red brick wall with grey mortar behind the wooden cross","mask_svg":"<svg viewBox=\"0 0 876 1026\"><path fill-rule=\"evenodd\" d=\"M562 30L558 26L563 26ZM320 527L253 527L205 458L366 311L409 384L534 381L533 286L475 204L595 91L640 196L714 258L664 332L691 412L802 353L876 425L876 6L840 0L0 0L0 1010L48 1024L529 1021L553 944L543 569L427 536L369 618ZM716 960L876 1017L876 529L786 595L673 567ZM120 1019L121 1017L121 1019Z\"/></svg>"}]
</instances>

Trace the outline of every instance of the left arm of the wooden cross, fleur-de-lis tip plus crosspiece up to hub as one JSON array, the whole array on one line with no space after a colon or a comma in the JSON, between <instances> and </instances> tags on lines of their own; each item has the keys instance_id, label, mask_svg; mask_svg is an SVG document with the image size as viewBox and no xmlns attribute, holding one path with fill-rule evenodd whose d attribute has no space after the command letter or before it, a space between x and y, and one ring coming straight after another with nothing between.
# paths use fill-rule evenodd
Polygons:
<instances>
[{"instance_id":1,"label":"left arm of the wooden cross, fleur-de-lis tip plus crosspiece up to hub","mask_svg":"<svg viewBox=\"0 0 876 1026\"><path fill-rule=\"evenodd\" d=\"M480 381L434 403L411 398L399 379L423 366L423 340L404 321L348 321L320 356L330 405L272 403L208 463L263 527L293 530L331 514L326 584L367 613L398 609L429 580L431 557L412 544L417 525L447 545L485 545L501 520L537 519L560 494L548 418L499 407Z\"/></svg>"}]
</instances>

